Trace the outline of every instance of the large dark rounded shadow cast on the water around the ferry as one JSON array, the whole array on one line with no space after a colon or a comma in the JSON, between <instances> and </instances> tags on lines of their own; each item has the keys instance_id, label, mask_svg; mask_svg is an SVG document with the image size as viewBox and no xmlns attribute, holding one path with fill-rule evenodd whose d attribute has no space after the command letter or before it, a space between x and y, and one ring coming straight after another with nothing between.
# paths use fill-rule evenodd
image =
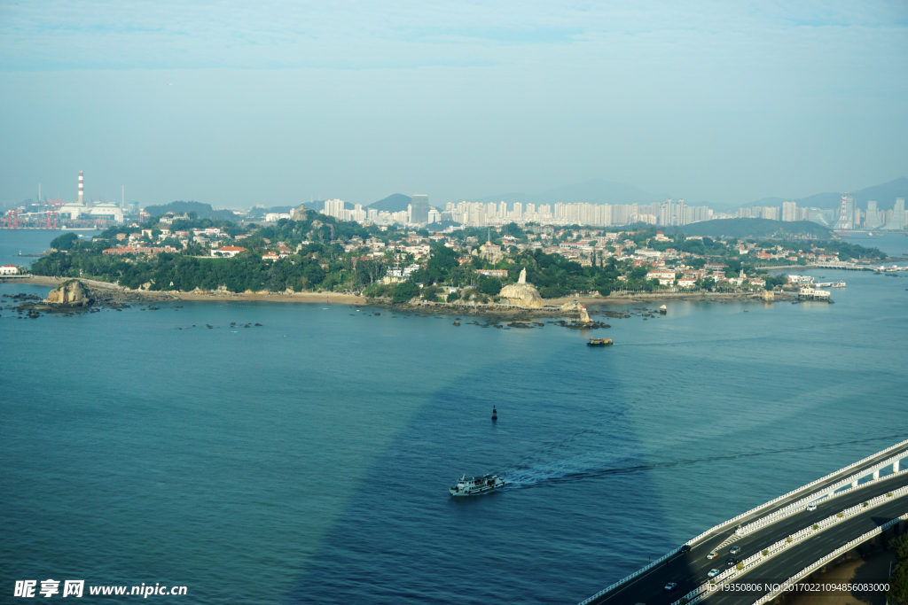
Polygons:
<instances>
[{"instance_id":1,"label":"large dark rounded shadow cast on the water around the ferry","mask_svg":"<svg viewBox=\"0 0 908 605\"><path fill-rule=\"evenodd\" d=\"M640 462L627 455L639 444L619 382L600 358L592 384L582 376L594 366L565 353L511 359L507 372L473 369L433 395L372 466L286 602L565 603L646 564L640 544L658 545L653 558L668 550L666 524L651 521L666 511L646 465L593 468ZM597 455L580 454L593 447ZM450 497L461 473L500 473L508 485Z\"/></svg>"}]
</instances>

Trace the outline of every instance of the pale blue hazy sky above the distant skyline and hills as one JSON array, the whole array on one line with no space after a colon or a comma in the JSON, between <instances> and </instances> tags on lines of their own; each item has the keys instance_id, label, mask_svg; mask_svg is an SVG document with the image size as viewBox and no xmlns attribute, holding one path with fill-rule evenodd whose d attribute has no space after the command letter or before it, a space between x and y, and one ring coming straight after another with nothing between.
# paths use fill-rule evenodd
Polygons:
<instances>
[{"instance_id":1,"label":"pale blue hazy sky above the distant skyline and hills","mask_svg":"<svg viewBox=\"0 0 908 605\"><path fill-rule=\"evenodd\" d=\"M908 176L908 2L0 3L0 201Z\"/></svg>"}]
</instances>

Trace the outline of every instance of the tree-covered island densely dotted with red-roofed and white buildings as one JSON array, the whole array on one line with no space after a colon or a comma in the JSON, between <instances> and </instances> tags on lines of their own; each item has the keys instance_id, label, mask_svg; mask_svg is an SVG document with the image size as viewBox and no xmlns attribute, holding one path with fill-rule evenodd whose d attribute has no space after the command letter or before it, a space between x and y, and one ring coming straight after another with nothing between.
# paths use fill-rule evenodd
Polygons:
<instances>
[{"instance_id":1,"label":"tree-covered island densely dotted with red-roofed and white buildings","mask_svg":"<svg viewBox=\"0 0 908 605\"><path fill-rule=\"evenodd\" d=\"M642 224L510 223L439 232L342 221L304 207L292 216L259 225L170 211L91 241L66 233L30 271L140 292L334 292L393 303L490 305L524 269L543 299L604 298L759 292L785 286L776 268L886 258L837 239L713 238L681 230L666 236Z\"/></svg>"}]
</instances>

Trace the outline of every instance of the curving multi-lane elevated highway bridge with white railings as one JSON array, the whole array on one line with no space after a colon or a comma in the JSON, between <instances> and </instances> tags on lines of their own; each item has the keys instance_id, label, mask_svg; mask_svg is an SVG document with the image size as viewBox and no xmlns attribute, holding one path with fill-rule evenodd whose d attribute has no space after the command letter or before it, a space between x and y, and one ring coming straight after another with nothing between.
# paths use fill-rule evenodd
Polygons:
<instances>
[{"instance_id":1,"label":"curving multi-lane elevated highway bridge with white railings","mask_svg":"<svg viewBox=\"0 0 908 605\"><path fill-rule=\"evenodd\" d=\"M734 519L716 525L580 605L760 603L767 590L723 585L796 582L814 564L851 550L908 520L908 440L830 473ZM808 510L808 505L810 509ZM740 552L731 555L729 549ZM716 557L706 555L716 551ZM734 556L741 563L726 565ZM709 578L711 570L719 570ZM798 577L798 576L801 577ZM675 590L666 591L669 582ZM715 582L715 583L711 583Z\"/></svg>"}]
</instances>

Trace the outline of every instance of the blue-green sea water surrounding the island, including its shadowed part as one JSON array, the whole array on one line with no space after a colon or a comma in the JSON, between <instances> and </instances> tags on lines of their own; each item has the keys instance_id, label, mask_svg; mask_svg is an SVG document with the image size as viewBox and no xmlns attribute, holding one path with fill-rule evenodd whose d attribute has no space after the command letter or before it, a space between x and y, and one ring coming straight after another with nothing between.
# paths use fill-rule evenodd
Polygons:
<instances>
[{"instance_id":1,"label":"blue-green sea water surrounding the island, including its shadowed part","mask_svg":"<svg viewBox=\"0 0 908 605\"><path fill-rule=\"evenodd\" d=\"M184 603L582 600L908 438L908 274L812 272L847 281L834 305L670 302L591 334L312 304L0 309L0 602L48 578ZM462 473L508 488L450 498Z\"/></svg>"}]
</instances>

